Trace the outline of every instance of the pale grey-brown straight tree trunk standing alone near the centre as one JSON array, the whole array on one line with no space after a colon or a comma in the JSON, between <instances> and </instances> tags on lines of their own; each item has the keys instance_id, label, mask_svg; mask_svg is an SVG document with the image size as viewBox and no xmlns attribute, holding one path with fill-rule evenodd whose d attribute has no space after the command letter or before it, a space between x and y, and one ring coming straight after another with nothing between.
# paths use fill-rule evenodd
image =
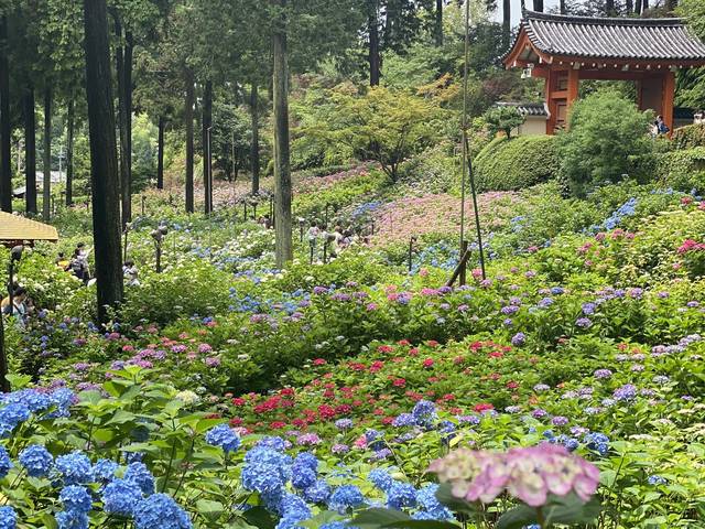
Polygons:
<instances>
[{"instance_id":1,"label":"pale grey-brown straight tree trunk standing alone near the centre","mask_svg":"<svg viewBox=\"0 0 705 529\"><path fill-rule=\"evenodd\" d=\"M286 56L286 0L275 2L282 10L274 34L274 228L275 263L281 269L293 259L291 234L291 166L289 158L289 64Z\"/></svg>"}]
</instances>

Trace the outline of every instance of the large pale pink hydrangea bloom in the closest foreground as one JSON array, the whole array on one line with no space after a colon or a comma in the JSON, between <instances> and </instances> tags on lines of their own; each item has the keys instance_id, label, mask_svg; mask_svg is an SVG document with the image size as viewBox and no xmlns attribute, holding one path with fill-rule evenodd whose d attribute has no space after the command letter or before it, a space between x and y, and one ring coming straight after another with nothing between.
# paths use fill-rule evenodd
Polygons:
<instances>
[{"instance_id":1,"label":"large pale pink hydrangea bloom in the closest foreground","mask_svg":"<svg viewBox=\"0 0 705 529\"><path fill-rule=\"evenodd\" d=\"M455 497L484 504L503 490L531 507L544 505L549 494L571 492L587 501L599 483L595 465L549 443L506 453L460 449L433 462L430 471L452 485Z\"/></svg>"}]
</instances>

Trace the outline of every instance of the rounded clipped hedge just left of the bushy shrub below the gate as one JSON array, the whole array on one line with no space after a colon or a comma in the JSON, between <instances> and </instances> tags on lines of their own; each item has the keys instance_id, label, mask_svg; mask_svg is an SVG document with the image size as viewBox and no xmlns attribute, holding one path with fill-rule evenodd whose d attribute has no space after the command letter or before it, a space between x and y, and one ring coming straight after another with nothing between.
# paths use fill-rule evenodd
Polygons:
<instances>
[{"instance_id":1,"label":"rounded clipped hedge just left of the bushy shrub below the gate","mask_svg":"<svg viewBox=\"0 0 705 529\"><path fill-rule=\"evenodd\" d=\"M475 158L480 191L514 191L555 179L561 166L554 136L497 138Z\"/></svg>"}]
</instances>

